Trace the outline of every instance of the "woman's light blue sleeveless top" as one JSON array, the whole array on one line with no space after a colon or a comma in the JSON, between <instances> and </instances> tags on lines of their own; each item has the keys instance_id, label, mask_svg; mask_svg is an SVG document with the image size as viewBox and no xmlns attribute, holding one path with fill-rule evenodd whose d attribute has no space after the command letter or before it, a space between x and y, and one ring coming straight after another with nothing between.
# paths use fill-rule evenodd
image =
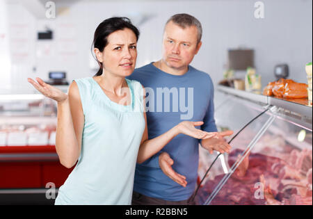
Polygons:
<instances>
[{"instance_id":1,"label":"woman's light blue sleeveless top","mask_svg":"<svg viewBox=\"0 0 313 219\"><path fill-rule=\"evenodd\" d=\"M145 130L143 87L126 79L131 104L123 106L112 102L92 77L74 81L85 115L81 155L55 204L131 204Z\"/></svg>"}]
</instances>

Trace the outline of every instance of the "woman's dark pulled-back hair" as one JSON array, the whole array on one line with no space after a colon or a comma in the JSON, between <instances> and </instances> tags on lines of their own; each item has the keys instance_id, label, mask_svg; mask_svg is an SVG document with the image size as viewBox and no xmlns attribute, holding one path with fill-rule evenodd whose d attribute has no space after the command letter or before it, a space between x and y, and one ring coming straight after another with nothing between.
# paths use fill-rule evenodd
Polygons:
<instances>
[{"instance_id":1,"label":"woman's dark pulled-back hair","mask_svg":"<svg viewBox=\"0 0 313 219\"><path fill-rule=\"evenodd\" d=\"M136 35L136 40L138 41L139 38L139 31L131 24L131 20L127 17L111 17L109 19L105 19L97 29L95 30L95 35L93 38L93 47L99 49L99 51L104 51L104 48L108 44L108 36L115 32L115 31L121 31L124 29L131 29ZM97 57L96 57L97 60ZM102 75L103 65L97 60L97 63L99 64L100 68L95 74L95 76Z\"/></svg>"}]
</instances>

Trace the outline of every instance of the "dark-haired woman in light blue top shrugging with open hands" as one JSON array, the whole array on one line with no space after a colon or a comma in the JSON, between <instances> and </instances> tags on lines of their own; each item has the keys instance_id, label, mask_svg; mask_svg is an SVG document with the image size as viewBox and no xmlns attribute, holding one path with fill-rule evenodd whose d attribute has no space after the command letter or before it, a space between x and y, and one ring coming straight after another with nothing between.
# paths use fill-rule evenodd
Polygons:
<instances>
[{"instance_id":1,"label":"dark-haired woman in light blue top shrugging with open hands","mask_svg":"<svg viewBox=\"0 0 313 219\"><path fill-rule=\"evenodd\" d=\"M147 139L144 88L125 79L136 65L138 36L125 17L99 24L93 42L99 72L74 80L68 95L39 78L38 83L29 79L58 103L56 152L61 163L67 168L77 163L56 204L131 204L136 162L149 159L179 133L199 139L215 136L195 129L202 122L182 122Z\"/></svg>"}]
</instances>

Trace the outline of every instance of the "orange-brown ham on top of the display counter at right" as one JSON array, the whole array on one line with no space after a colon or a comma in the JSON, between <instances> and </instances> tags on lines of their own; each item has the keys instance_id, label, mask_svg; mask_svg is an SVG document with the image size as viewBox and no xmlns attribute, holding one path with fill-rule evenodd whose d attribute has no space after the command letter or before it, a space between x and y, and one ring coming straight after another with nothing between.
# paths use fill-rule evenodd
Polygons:
<instances>
[{"instance_id":1,"label":"orange-brown ham on top of the display counter at right","mask_svg":"<svg viewBox=\"0 0 313 219\"><path fill-rule=\"evenodd\" d=\"M296 83L291 79L280 79L268 83L264 88L263 95L280 98L303 99L307 98L307 84Z\"/></svg>"}]
</instances>

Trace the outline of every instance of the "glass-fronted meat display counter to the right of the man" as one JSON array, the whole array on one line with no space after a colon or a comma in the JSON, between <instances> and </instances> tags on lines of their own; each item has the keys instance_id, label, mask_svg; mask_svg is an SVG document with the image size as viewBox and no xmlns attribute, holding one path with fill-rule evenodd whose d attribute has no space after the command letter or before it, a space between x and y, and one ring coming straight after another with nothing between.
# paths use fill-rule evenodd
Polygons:
<instances>
[{"instance_id":1,"label":"glass-fronted meat display counter to the right of the man","mask_svg":"<svg viewBox=\"0 0 313 219\"><path fill-rule=\"evenodd\" d=\"M200 147L197 204L312 205L312 107L218 86L229 154Z\"/></svg>"}]
</instances>

